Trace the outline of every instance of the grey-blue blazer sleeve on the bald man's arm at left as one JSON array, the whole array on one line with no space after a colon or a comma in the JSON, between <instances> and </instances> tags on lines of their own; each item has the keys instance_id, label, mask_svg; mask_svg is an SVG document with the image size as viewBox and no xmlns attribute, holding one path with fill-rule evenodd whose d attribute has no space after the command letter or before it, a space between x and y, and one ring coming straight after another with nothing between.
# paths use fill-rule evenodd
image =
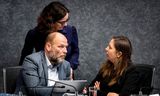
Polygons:
<instances>
[{"instance_id":1,"label":"grey-blue blazer sleeve on the bald man's arm at left","mask_svg":"<svg viewBox=\"0 0 160 96\"><path fill-rule=\"evenodd\" d=\"M36 58L35 58L36 57ZM34 59L33 59L34 58ZM27 93L29 96L50 96L52 93L52 86L47 87L46 79L44 73L42 71L43 67L39 62L40 58L38 56L31 55L27 56L23 63L23 70L22 70L22 78L24 81L24 86L26 87ZM33 74L35 76L30 76L28 74ZM42 74L42 75L41 75ZM39 77L38 77L39 76ZM43 78L40 78L43 77Z\"/></svg>"}]
</instances>

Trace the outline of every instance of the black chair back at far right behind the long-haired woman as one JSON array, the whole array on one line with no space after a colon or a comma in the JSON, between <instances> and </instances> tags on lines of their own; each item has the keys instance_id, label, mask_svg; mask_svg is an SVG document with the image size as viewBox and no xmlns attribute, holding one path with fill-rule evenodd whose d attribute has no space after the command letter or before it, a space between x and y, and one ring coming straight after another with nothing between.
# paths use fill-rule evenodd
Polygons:
<instances>
[{"instance_id":1,"label":"black chair back at far right behind the long-haired woman","mask_svg":"<svg viewBox=\"0 0 160 96\"><path fill-rule=\"evenodd\" d=\"M148 64L136 64L136 70L139 72L138 88L142 94L151 94L154 83L155 66Z\"/></svg>"}]
</instances>

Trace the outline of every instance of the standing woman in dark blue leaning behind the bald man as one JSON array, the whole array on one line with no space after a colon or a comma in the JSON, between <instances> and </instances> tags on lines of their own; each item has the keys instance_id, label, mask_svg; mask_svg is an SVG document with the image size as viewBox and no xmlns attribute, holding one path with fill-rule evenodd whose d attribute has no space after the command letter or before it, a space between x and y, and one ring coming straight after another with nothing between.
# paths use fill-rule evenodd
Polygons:
<instances>
[{"instance_id":1,"label":"standing woman in dark blue leaning behind the bald man","mask_svg":"<svg viewBox=\"0 0 160 96\"><path fill-rule=\"evenodd\" d=\"M65 5L58 1L48 4L38 17L37 26L27 33L19 65L22 65L27 55L44 49L44 42L48 32L58 31L65 35L68 40L67 56L65 59L70 62L73 70L77 69L79 65L77 30L74 26L67 25L68 20L69 10Z\"/></svg>"}]
</instances>

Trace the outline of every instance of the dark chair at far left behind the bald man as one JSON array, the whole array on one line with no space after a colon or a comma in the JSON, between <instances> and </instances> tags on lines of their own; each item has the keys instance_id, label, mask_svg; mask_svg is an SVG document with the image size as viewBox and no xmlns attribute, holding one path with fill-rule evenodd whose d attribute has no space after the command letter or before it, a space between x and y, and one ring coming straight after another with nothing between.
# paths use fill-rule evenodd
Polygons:
<instances>
[{"instance_id":1,"label":"dark chair at far left behind the bald man","mask_svg":"<svg viewBox=\"0 0 160 96\"><path fill-rule=\"evenodd\" d=\"M19 76L21 66L3 68L3 91L4 93L14 93L16 81Z\"/></svg>"}]
</instances>

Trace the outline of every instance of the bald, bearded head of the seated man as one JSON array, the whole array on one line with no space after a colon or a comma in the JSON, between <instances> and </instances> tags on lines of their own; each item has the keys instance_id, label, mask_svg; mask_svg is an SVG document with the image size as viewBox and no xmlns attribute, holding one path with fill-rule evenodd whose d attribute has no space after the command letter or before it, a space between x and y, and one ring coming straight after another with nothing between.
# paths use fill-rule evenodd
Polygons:
<instances>
[{"instance_id":1,"label":"bald, bearded head of the seated man","mask_svg":"<svg viewBox=\"0 0 160 96\"><path fill-rule=\"evenodd\" d=\"M62 63L67 54L67 39L59 32L50 33L45 42L45 54L51 63Z\"/></svg>"}]
</instances>

